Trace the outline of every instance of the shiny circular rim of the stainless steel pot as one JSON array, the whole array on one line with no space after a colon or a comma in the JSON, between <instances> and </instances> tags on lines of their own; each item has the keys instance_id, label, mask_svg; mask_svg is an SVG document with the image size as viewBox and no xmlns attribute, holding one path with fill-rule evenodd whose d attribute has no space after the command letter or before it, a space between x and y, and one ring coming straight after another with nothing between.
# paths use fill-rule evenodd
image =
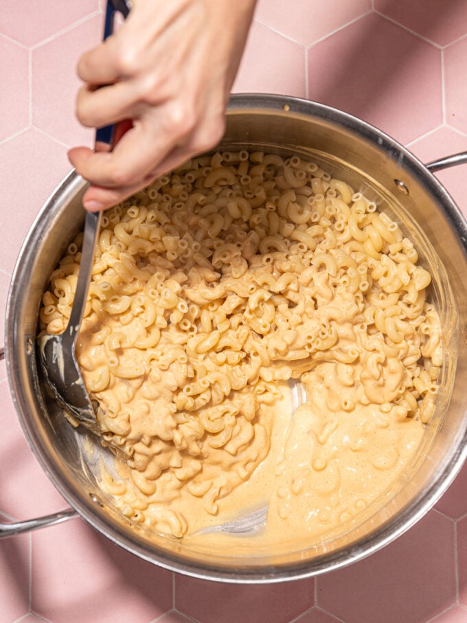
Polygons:
<instances>
[{"instance_id":1,"label":"shiny circular rim of the stainless steel pot","mask_svg":"<svg viewBox=\"0 0 467 623\"><path fill-rule=\"evenodd\" d=\"M302 117L315 117L320 120L326 120L343 126L347 130L352 131L359 137L364 137L368 141L376 142L378 147L385 150L387 154L400 163L400 168L409 171L415 177L418 177L420 181L426 186L426 188L435 196L435 198L442 204L448 221L457 232L459 240L462 242L464 254L467 257L467 222L459 207L455 204L447 190L442 183L438 181L433 173L425 166L420 160L418 160L407 148L400 145L397 141L386 135L382 131L378 130L371 124L364 122L363 120L354 117L349 113L339 111L326 104L319 104L317 102L311 102L310 100L304 100L300 98L294 98L291 96L282 95L269 95L269 94L255 94L255 93L240 93L231 96L229 106L227 109L227 115L232 113L245 113L249 111L255 111L262 109L266 113L277 113L278 111L284 111L291 115L299 115ZM464 425L464 431L459 431L458 443L456 444L455 452L446 462L446 466L440 474L437 474L437 478L433 481L433 484L429 490L421 492L415 497L406 508L404 512L391 517L378 529L369 535L365 536L364 543L363 537L358 539L350 548L345 550L336 550L333 554L320 556L319 558L307 560L306 563L291 563L290 565L284 565L281 568L268 567L255 567L254 570L248 570L245 572L243 569L239 573L238 569L232 567L231 569L225 569L224 567L211 567L207 565L196 565L190 561L187 565L183 557L179 558L176 555L167 554L166 552L159 552L152 550L149 552L148 547L143 547L135 539L132 539L128 534L115 535L115 530L109 532L109 523L104 521L103 516L93 513L93 509L89 506L85 506L84 503L73 493L67 490L60 482L58 471L52 461L51 457L47 454L45 449L41 446L40 439L34 434L34 430L25 417L23 416L23 409L26 408L25 401L20 394L17 393L19 389L19 381L17 378L16 365L14 363L14 345L16 340L17 327L15 324L15 300L19 296L21 291L21 277L23 275L23 266L27 264L27 260L34 256L34 249L30 245L30 236L37 227L39 221L42 221L50 207L62 198L62 194L76 194L80 188L83 188L84 181L71 171L65 179L63 179L57 188L52 192L49 199L45 201L45 204L39 212L36 220L32 224L29 233L23 243L23 247L19 253L19 258L14 267L12 274L10 291L8 294L6 319L5 319L5 359L8 370L8 382L10 385L10 393L16 408L17 415L19 417L21 427L25 433L28 444L30 445L34 455L40 462L43 470L51 479L54 486L59 490L60 494L68 501L68 503L80 514L80 516L87 521L90 525L96 528L99 532L102 532L104 536L107 536L111 541L121 545L126 550L137 554L140 558L148 560L151 563L156 563L161 567L170 569L172 571L178 571L185 575L194 576L196 578L208 579L208 580L220 580L223 582L231 583L272 583L286 580L296 580L299 578L308 578L328 572L340 567L354 563L357 560L361 560L365 556L372 554L385 545L389 544L394 539L398 538L403 532L411 528L426 512L433 506L433 504L441 497L448 486L453 482L455 476L460 471L464 461L467 459L467 420ZM466 418L464 418L465 420ZM70 514L70 517L75 515ZM51 517L54 517L52 515ZM56 523L56 522L50 522ZM14 524L12 524L14 525ZM320 561L320 559L323 559Z\"/></svg>"}]
</instances>

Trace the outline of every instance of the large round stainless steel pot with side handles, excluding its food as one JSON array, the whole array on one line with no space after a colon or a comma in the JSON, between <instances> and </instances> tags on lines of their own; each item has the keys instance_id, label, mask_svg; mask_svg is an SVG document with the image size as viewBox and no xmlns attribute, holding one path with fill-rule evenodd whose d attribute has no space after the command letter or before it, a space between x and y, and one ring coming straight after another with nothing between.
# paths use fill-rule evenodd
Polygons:
<instances>
[{"instance_id":1,"label":"large round stainless steel pot with side handles, excluding its food","mask_svg":"<svg viewBox=\"0 0 467 623\"><path fill-rule=\"evenodd\" d=\"M45 472L74 510L0 525L3 536L64 521L78 513L94 528L152 563L199 578L274 582L330 571L363 558L405 532L442 495L467 456L467 224L433 170L466 162L467 154L424 166L396 141L328 106L271 95L236 95L220 148L299 153L319 161L416 241L435 275L431 295L440 309L446 361L442 392L420 455L387 495L346 534L268 552L228 554L150 535L122 517L100 490L93 453L44 391L35 335L41 295L70 238L82 227L85 183L71 172L45 203L25 240L12 277L5 356L10 388L27 440ZM95 445L95 456L100 452Z\"/></svg>"}]
</instances>

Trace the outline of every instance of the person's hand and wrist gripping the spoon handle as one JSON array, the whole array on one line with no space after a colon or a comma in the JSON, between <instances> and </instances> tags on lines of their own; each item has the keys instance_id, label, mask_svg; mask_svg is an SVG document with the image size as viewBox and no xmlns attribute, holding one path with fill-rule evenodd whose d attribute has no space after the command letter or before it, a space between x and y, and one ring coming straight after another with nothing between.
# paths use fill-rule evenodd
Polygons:
<instances>
[{"instance_id":1,"label":"person's hand and wrist gripping the spoon handle","mask_svg":"<svg viewBox=\"0 0 467 623\"><path fill-rule=\"evenodd\" d=\"M86 209L111 207L216 145L255 1L134 0L117 32L82 56L78 120L120 131L131 120L112 152L69 151L91 183Z\"/></svg>"}]
</instances>

